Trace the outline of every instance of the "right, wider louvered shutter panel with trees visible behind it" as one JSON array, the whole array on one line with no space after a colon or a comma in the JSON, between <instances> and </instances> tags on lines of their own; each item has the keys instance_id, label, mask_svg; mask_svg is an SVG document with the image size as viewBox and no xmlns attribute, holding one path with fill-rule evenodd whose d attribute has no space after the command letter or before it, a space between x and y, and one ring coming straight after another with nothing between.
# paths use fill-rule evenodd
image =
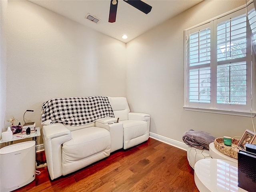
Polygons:
<instances>
[{"instance_id":1,"label":"right, wider louvered shutter panel with trees visible behind it","mask_svg":"<svg viewBox=\"0 0 256 192\"><path fill-rule=\"evenodd\" d=\"M246 14L217 24L217 62L217 103L246 105Z\"/></svg>"}]
</instances>

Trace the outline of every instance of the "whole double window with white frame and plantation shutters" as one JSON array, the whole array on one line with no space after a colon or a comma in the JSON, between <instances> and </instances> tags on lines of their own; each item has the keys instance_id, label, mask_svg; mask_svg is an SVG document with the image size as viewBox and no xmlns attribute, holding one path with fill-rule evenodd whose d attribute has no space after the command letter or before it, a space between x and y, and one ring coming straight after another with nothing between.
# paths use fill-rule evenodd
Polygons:
<instances>
[{"instance_id":1,"label":"whole double window with white frame and plantation shutters","mask_svg":"<svg viewBox=\"0 0 256 192\"><path fill-rule=\"evenodd\" d=\"M185 30L185 109L255 111L250 37L245 8Z\"/></svg>"}]
</instances>

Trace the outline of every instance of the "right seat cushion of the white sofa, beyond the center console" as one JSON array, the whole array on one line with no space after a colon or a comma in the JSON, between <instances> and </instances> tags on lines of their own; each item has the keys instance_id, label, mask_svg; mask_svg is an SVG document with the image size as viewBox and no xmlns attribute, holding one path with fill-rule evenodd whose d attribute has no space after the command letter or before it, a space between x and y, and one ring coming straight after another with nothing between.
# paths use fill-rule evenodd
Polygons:
<instances>
[{"instance_id":1,"label":"right seat cushion of the white sofa, beyond the center console","mask_svg":"<svg viewBox=\"0 0 256 192\"><path fill-rule=\"evenodd\" d=\"M124 125L124 141L148 134L148 123L140 120L120 121Z\"/></svg>"}]
</instances>

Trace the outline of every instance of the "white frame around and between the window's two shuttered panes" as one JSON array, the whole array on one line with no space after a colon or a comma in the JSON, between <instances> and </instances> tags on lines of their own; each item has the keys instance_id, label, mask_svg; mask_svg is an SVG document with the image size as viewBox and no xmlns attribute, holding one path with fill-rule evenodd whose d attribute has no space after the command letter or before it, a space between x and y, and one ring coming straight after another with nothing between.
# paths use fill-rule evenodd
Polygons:
<instances>
[{"instance_id":1,"label":"white frame around and between the window's two shuttered panes","mask_svg":"<svg viewBox=\"0 0 256 192\"><path fill-rule=\"evenodd\" d=\"M256 115L256 102L255 102L255 81L254 81L254 71L255 71L255 63L250 64L253 58L251 54L251 45L248 43L250 38L248 39L247 35L247 48L246 48L246 87L250 87L251 90L246 89L246 95L250 95L251 98L246 99L246 106L244 105L231 105L231 104L217 104L216 100L216 82L217 82L217 40L213 40L213 36L217 36L217 23L221 21L228 20L230 16L236 17L235 15L241 15L246 13L245 6L237 8L236 10L232 10L226 14L218 16L212 20L206 21L202 24L184 30L184 106L185 110L192 111L200 111L200 112L211 112L218 114L230 114L230 115L238 115L238 116L249 116L254 117ZM188 56L188 48L187 41L189 40L189 35L198 29L212 28L211 30L211 101L210 103L199 103L199 102L189 102L189 70L192 68L189 66L189 56ZM247 28L250 26L247 26ZM248 33L248 30L247 30ZM250 48L248 48L248 45ZM237 59L234 59L236 62ZM239 60L239 59L238 59ZM255 61L255 60L253 60ZM249 105L249 106L248 106ZM247 108L247 110L245 110ZM249 110L250 108L250 110Z\"/></svg>"}]
</instances>

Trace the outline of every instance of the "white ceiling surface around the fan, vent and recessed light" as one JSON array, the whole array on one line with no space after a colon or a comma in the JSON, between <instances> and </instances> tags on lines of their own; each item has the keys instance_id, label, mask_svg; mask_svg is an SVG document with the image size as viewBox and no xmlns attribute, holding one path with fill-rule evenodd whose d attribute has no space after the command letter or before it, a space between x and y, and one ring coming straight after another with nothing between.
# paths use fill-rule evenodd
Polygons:
<instances>
[{"instance_id":1,"label":"white ceiling surface around the fan, vent and recessed light","mask_svg":"<svg viewBox=\"0 0 256 192\"><path fill-rule=\"evenodd\" d=\"M129 42L147 30L198 4L202 0L143 0L152 10L144 14L123 0L118 1L116 22L109 23L110 0L30 0L66 18L88 26L122 42ZM85 19L90 13L99 18L96 24ZM122 35L126 34L127 39Z\"/></svg>"}]
</instances>

